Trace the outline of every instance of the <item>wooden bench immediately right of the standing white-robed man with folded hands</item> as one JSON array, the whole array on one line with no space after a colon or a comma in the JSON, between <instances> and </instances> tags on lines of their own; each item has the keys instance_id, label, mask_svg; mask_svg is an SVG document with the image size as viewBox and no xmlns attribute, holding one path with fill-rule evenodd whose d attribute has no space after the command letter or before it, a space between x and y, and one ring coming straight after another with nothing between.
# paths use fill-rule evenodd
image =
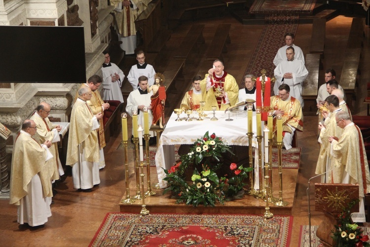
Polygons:
<instances>
[{"instance_id":1,"label":"wooden bench immediately right of the standing white-robed man with folded hands","mask_svg":"<svg viewBox=\"0 0 370 247\"><path fill-rule=\"evenodd\" d=\"M306 54L305 66L308 70L307 79L303 82L302 98L304 115L316 115L317 90L319 84L320 54Z\"/></svg>"}]
</instances>

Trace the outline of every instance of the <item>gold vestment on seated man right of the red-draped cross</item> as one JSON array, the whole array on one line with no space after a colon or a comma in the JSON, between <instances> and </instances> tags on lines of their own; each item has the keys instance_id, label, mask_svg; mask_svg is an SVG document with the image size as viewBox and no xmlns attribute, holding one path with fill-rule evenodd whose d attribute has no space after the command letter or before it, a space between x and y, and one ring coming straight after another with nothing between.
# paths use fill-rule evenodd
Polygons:
<instances>
[{"instance_id":1,"label":"gold vestment on seated man right of the red-draped cross","mask_svg":"<svg viewBox=\"0 0 370 247\"><path fill-rule=\"evenodd\" d=\"M292 133L292 129L287 125L295 127L299 131L303 131L303 114L302 108L300 107L299 100L295 97L290 97L287 100L281 100L280 96L271 97L271 109L273 110L283 110L284 114L282 116L283 120L283 132ZM273 121L273 133L276 132L276 118Z\"/></svg>"}]
</instances>

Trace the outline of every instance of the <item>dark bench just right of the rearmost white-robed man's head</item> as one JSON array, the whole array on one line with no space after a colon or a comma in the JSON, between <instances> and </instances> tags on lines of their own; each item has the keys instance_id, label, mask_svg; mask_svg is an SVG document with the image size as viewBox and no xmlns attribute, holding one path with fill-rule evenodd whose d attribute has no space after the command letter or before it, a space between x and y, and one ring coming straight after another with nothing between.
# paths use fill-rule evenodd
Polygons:
<instances>
[{"instance_id":1,"label":"dark bench just right of the rearmost white-robed man's head","mask_svg":"<svg viewBox=\"0 0 370 247\"><path fill-rule=\"evenodd\" d=\"M310 53L324 57L326 19L314 19L312 24Z\"/></svg>"}]
</instances>

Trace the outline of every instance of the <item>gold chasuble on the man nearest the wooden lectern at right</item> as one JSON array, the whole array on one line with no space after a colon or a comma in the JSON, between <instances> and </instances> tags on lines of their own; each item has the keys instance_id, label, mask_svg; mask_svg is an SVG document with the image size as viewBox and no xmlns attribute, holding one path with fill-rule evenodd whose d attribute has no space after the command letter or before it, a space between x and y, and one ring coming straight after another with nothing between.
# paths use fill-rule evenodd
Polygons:
<instances>
[{"instance_id":1,"label":"gold chasuble on the man nearest the wooden lectern at right","mask_svg":"<svg viewBox=\"0 0 370 247\"><path fill-rule=\"evenodd\" d=\"M333 157L342 166L341 170L344 169L350 176L349 183L359 185L359 196L364 197L365 193L370 193L368 158L360 128L353 123L345 126L339 140L333 140L332 147ZM336 174L339 175L339 172Z\"/></svg>"}]
</instances>

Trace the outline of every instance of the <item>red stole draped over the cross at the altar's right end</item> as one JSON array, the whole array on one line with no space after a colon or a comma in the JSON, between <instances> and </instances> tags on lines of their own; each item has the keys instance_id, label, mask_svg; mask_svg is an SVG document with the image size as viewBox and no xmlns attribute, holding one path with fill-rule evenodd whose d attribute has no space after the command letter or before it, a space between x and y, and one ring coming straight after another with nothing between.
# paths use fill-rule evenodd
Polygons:
<instances>
[{"instance_id":1,"label":"red stole draped over the cross at the altar's right end","mask_svg":"<svg viewBox=\"0 0 370 247\"><path fill-rule=\"evenodd\" d=\"M257 78L256 81L256 106L257 109L261 110L261 120L267 121L268 112L271 110L270 109L271 80L269 77L267 77L267 81L265 81L262 103L262 85L259 78Z\"/></svg>"}]
</instances>

